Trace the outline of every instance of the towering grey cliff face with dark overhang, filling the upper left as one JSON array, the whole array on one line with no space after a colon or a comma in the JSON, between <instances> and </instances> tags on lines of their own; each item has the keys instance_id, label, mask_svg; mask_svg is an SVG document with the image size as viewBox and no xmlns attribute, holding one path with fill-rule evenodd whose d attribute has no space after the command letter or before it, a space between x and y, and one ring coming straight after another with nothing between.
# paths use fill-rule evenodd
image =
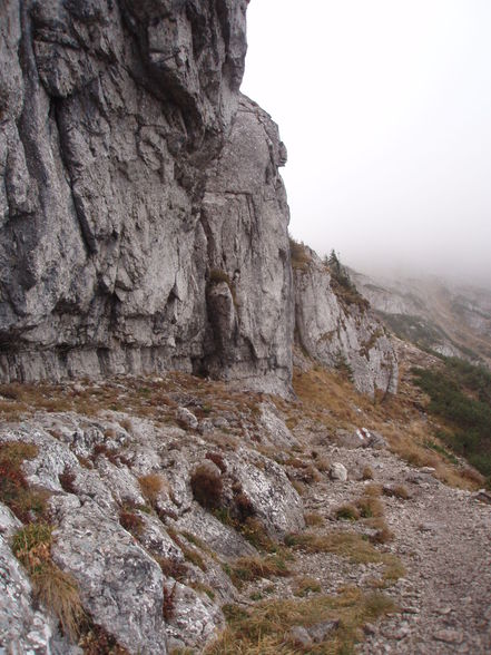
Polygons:
<instances>
[{"instance_id":1,"label":"towering grey cliff face with dark overhang, filling the upper left","mask_svg":"<svg viewBox=\"0 0 491 655\"><path fill-rule=\"evenodd\" d=\"M246 4L1 4L0 379L286 391L285 151L238 92Z\"/></svg>"}]
</instances>

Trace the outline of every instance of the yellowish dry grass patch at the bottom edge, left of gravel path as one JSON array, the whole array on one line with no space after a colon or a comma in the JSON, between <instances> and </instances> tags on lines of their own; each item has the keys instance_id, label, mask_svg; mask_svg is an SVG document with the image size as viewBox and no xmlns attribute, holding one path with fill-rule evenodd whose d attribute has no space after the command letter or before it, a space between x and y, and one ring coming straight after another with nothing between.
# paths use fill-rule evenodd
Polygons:
<instances>
[{"instance_id":1,"label":"yellowish dry grass patch at the bottom edge, left of gravel path","mask_svg":"<svg viewBox=\"0 0 491 655\"><path fill-rule=\"evenodd\" d=\"M311 627L325 620L338 620L338 628L308 652L324 655L352 653L355 643L362 638L361 627L394 612L395 606L381 593L363 594L350 588L337 596L263 600L248 610L237 606L225 606L224 610L228 627L218 642L205 649L206 655L298 654L298 647L285 641L288 629L295 625Z\"/></svg>"}]
</instances>

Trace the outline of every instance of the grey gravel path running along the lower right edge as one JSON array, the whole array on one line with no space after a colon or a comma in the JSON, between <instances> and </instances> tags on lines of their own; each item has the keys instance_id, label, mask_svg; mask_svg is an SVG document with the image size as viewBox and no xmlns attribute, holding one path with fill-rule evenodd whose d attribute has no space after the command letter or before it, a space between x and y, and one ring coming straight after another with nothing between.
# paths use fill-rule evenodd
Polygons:
<instances>
[{"instance_id":1,"label":"grey gravel path running along the lower right edge","mask_svg":"<svg viewBox=\"0 0 491 655\"><path fill-rule=\"evenodd\" d=\"M389 505L389 504L387 504ZM392 590L403 613L370 635L362 653L491 653L491 506L440 482L392 501L391 550L407 569Z\"/></svg>"}]
</instances>

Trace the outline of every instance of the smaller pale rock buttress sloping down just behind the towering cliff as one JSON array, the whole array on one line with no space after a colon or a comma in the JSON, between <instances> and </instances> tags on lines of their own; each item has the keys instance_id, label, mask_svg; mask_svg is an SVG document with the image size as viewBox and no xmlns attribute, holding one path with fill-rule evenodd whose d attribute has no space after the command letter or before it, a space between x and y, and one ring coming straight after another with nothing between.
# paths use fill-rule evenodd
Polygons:
<instances>
[{"instance_id":1,"label":"smaller pale rock buttress sloping down just behind the towering cliff","mask_svg":"<svg viewBox=\"0 0 491 655\"><path fill-rule=\"evenodd\" d=\"M382 323L362 303L336 295L328 270L313 251L308 255L308 264L294 271L299 345L328 368L348 368L362 393L395 393L397 360Z\"/></svg>"}]
</instances>

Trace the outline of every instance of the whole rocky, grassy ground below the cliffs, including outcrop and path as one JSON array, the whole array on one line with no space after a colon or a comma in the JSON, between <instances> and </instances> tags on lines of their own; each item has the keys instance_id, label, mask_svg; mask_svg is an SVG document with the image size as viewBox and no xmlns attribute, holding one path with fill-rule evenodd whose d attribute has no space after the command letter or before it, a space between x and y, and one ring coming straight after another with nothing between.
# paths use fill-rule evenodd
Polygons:
<instances>
[{"instance_id":1,"label":"whole rocky, grassy ground below the cliffs, including outcrop and path","mask_svg":"<svg viewBox=\"0 0 491 655\"><path fill-rule=\"evenodd\" d=\"M289 401L183 374L3 387L0 652L489 653L489 497L424 446L402 373L382 403L318 369Z\"/></svg>"}]
</instances>

